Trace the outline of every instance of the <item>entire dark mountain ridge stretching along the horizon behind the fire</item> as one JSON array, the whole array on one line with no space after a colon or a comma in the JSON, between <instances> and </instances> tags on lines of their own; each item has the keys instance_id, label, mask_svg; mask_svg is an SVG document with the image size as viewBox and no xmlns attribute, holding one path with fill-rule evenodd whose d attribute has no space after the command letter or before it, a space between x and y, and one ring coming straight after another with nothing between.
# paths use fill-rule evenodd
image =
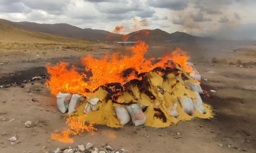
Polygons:
<instances>
[{"instance_id":1,"label":"entire dark mountain ridge stretching along the horizon behind the fire","mask_svg":"<svg viewBox=\"0 0 256 153\"><path fill-rule=\"evenodd\" d=\"M7 20L8 21L8 20ZM9 21L11 22L11 21ZM72 26L67 23L56 23L56 24L40 24L34 22L12 22L15 23L16 26L32 30L38 31L48 34L55 34L59 36L65 36L68 38L89 40L89 41L123 41L123 35L111 33L105 30L97 30L97 29L82 29L76 26ZM137 32L129 33L129 38L127 41L137 41L137 40L150 40L157 42L164 42L166 40L170 40L171 42L196 42L196 41L213 41L213 38L203 38L198 36L192 36L184 32L174 32L167 33L166 31L160 29L154 30L140 30Z\"/></svg>"}]
</instances>

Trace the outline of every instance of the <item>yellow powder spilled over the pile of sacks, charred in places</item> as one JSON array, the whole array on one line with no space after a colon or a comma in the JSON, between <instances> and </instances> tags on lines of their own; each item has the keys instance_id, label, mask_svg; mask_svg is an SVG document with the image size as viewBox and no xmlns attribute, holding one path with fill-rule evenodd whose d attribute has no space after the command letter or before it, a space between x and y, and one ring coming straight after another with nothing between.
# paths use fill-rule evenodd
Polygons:
<instances>
[{"instance_id":1,"label":"yellow powder spilled over the pile of sacks, charred in places","mask_svg":"<svg viewBox=\"0 0 256 153\"><path fill-rule=\"evenodd\" d=\"M193 115L188 115L183 111L180 98L197 98L197 91L189 89L186 84L194 84L196 81L189 77L183 71L169 73L163 77L164 74L150 71L146 74L146 81L150 83L147 89L155 96L151 99L147 94L141 91L136 85L130 85L130 91L121 91L118 96L118 103L112 103L112 100L106 101L108 91L104 88L94 92L94 94L87 96L84 103L71 115L84 115L84 108L86 103L90 103L91 99L99 98L98 111L90 111L87 116L80 118L81 121L94 122L96 124L105 124L110 127L122 126L115 115L114 106L124 107L125 103L132 102L139 104L142 108L146 107L144 114L146 116L146 126L153 126L157 128L167 127L171 124L176 124L178 121L188 121L194 117L211 118L210 106L203 104L205 113L202 114L198 110L194 110ZM165 79L163 79L165 78ZM186 84L185 84L186 82ZM131 93L132 91L132 93ZM176 105L176 111L179 114L173 117L169 110L173 110Z\"/></svg>"}]
</instances>

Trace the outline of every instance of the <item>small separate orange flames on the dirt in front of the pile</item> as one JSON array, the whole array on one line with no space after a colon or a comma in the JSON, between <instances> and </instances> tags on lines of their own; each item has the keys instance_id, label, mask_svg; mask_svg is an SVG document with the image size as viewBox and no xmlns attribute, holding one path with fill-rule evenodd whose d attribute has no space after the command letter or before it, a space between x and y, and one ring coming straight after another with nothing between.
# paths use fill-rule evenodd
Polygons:
<instances>
[{"instance_id":1,"label":"small separate orange flames on the dirt in front of the pile","mask_svg":"<svg viewBox=\"0 0 256 153\"><path fill-rule=\"evenodd\" d=\"M60 142L65 142L65 143L73 143L73 139L69 137L69 135L77 135L80 132L87 131L90 134L94 134L94 132L97 130L93 128L94 123L90 123L88 126L85 125L85 122L80 121L80 119L83 116L80 117L69 117L66 120L66 123L69 125L69 129L62 131L60 133L52 133L52 139L57 140Z\"/></svg>"}]
</instances>

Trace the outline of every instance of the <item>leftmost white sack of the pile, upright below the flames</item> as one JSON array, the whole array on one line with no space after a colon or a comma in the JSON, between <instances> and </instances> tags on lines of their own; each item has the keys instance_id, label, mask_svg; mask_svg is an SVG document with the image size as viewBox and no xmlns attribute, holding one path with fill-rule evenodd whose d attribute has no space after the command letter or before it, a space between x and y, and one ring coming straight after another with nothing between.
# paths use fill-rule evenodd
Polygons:
<instances>
[{"instance_id":1,"label":"leftmost white sack of the pile, upright below the flames","mask_svg":"<svg viewBox=\"0 0 256 153\"><path fill-rule=\"evenodd\" d=\"M71 96L72 94L70 93L62 94L61 92L57 95L57 106L61 113L66 113L68 111Z\"/></svg>"}]
</instances>

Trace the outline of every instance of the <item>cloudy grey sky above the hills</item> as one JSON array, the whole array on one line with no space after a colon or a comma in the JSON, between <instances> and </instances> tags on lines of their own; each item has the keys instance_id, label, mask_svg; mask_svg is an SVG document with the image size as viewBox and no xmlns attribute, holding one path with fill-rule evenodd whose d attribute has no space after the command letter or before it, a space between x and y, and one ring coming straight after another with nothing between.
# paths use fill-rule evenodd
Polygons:
<instances>
[{"instance_id":1,"label":"cloudy grey sky above the hills","mask_svg":"<svg viewBox=\"0 0 256 153\"><path fill-rule=\"evenodd\" d=\"M256 0L0 0L0 18L68 23L121 34L140 29L186 32L225 40L256 39ZM140 23L140 22L139 22Z\"/></svg>"}]
</instances>

